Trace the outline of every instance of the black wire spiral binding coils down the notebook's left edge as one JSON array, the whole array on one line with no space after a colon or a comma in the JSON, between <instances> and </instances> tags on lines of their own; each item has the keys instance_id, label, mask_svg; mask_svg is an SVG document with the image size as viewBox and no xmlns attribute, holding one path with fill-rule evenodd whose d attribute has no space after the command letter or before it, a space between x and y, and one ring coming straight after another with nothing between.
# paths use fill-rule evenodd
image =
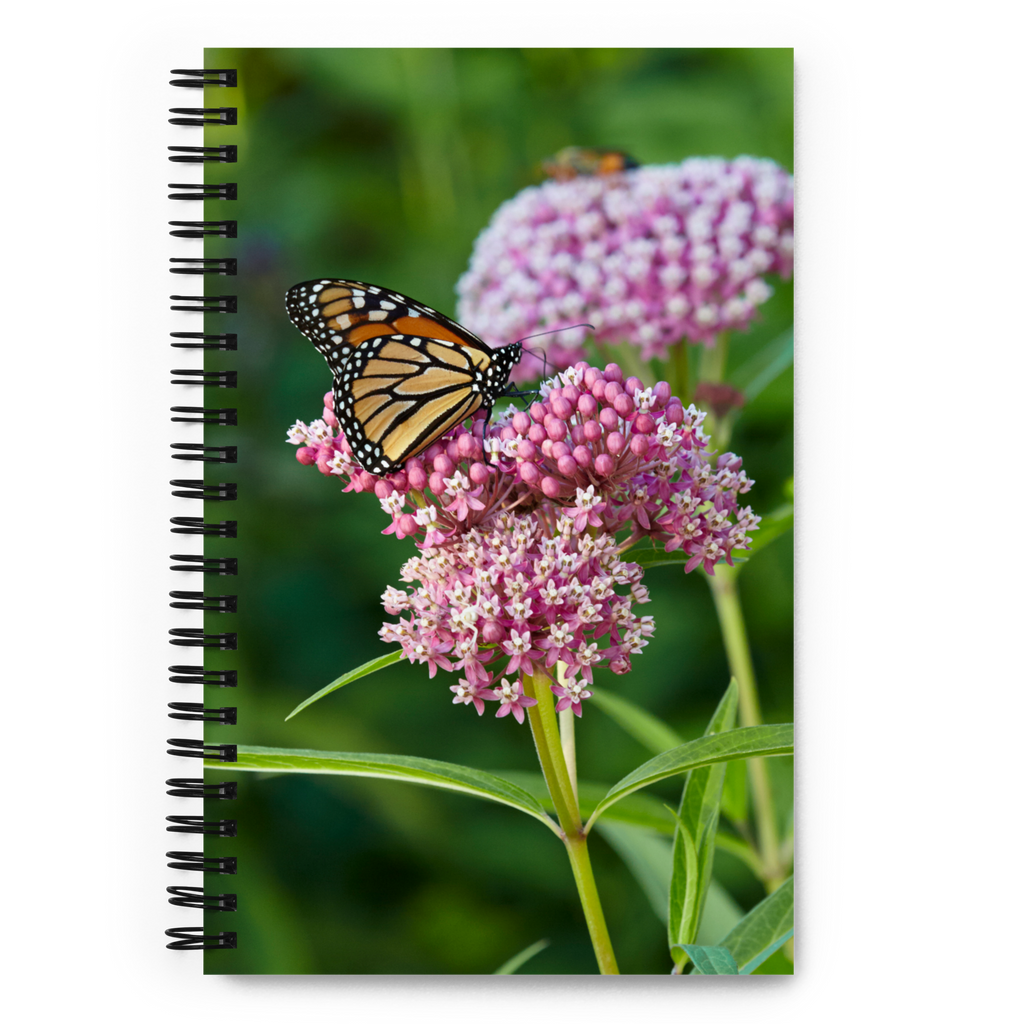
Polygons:
<instances>
[{"instance_id":1,"label":"black wire spiral binding coils down the notebook's left edge","mask_svg":"<svg viewBox=\"0 0 1024 1024\"><path fill-rule=\"evenodd\" d=\"M238 84L237 72L226 70L204 70L202 68L172 68L168 84L171 88L202 89L206 86L234 86ZM168 109L167 123L175 129L202 128L210 124L233 125L238 123L238 112L234 108L181 108ZM177 134L177 131L175 132ZM176 165L176 172L182 177L195 175L202 177L205 164L233 164L238 159L238 150L233 145L203 146L186 145L173 142L167 146L167 162ZM238 196L238 185L234 182L208 184L202 180L172 181L167 185L167 199L172 203L202 203L205 200L222 199L231 201ZM202 213L202 207L200 207ZM234 259L208 259L202 255L203 240L212 237L233 239L238 237L238 222L233 220L206 221L188 219L170 219L167 222L168 236L172 240L175 252L168 257L168 272L176 275L186 275L181 283L184 287L189 278L200 281L196 291L202 293L202 281L207 274L233 276L238 272L238 261ZM198 240L200 254L183 254L177 250L182 246L194 246ZM174 313L175 326L184 314L193 319L214 312L233 313L238 309L238 298L234 295L203 295L203 294L172 294L168 296L168 309ZM202 327L202 319L199 319ZM170 331L169 344L172 349L191 349L202 364L203 353L207 350L234 351L238 338L234 334L204 334L200 331ZM237 386L234 371L213 373L199 367L179 367L170 370L170 384L198 388L202 398L204 387L233 388ZM194 404L172 404L170 407L170 422L174 426L187 428L193 436L183 440L171 441L171 459L175 463L201 462L213 463L218 468L238 461L238 452L233 446L211 447L202 440L204 426L236 426L238 413L233 409L208 409L202 401ZM178 468L178 467L176 467ZM184 468L184 467L180 467ZM172 476L168 480L170 495L176 504L183 502L222 502L234 501L238 485L234 483L208 483L205 480L189 476ZM187 507L187 506L186 506ZM203 511L203 506L200 506ZM234 558L209 558L203 555L203 539L207 537L236 537L238 522L233 519L222 522L207 522L201 516L171 516L170 534L175 541L189 546L184 552L171 552L168 569L172 572L203 572L215 575L238 574L238 560ZM208 620L204 616L218 611L234 611L238 598L234 596L207 597L199 590L172 589L168 592L168 607L173 611L172 626L167 631L168 643L179 648L175 656L180 654L182 662L187 664L169 665L168 680L171 683L198 687L198 695L202 697L203 685L236 686L238 676L234 671L212 672L202 665L203 651L208 648L219 650L234 650L238 636L233 633L208 633ZM191 629L181 625L181 616L191 623L199 623L200 629ZM187 800L195 807L197 802L202 811L203 800L234 800L238 796L238 783L219 782L207 783L203 780L202 762L219 760L236 761L237 749L228 743L207 743L203 739L203 726L206 722L233 725L237 720L234 708L207 708L203 703L186 700L169 700L167 717L172 722L181 722L182 735L169 736L166 753L170 757L188 758L199 769L200 774L187 778L166 779L167 796L175 801ZM179 804L174 806L180 807ZM188 849L168 850L165 853L167 866L172 871L201 871L203 876L234 874L237 869L234 857L206 857L203 854L204 836L234 836L233 819L209 821L201 814L171 813L164 818L168 833L175 836L173 842L177 845L187 845ZM182 881L195 879L195 874L184 876ZM167 902L173 907L188 911L223 910L233 911L238 906L234 893L213 895L205 892L203 886L169 885L166 887ZM202 916L199 918L202 922ZM175 925L164 930L164 935L171 941L166 943L168 949L233 949L237 945L237 933L217 932L204 934L203 925Z\"/></svg>"}]
</instances>

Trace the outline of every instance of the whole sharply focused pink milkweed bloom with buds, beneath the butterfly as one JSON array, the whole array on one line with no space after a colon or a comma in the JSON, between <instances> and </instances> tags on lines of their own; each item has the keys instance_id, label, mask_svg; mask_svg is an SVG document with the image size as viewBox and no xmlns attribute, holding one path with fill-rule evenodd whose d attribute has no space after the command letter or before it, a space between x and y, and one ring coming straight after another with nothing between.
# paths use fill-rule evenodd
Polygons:
<instances>
[{"instance_id":1,"label":"whole sharply focused pink milkweed bloom with buds, beneath the butterfly","mask_svg":"<svg viewBox=\"0 0 1024 1024\"><path fill-rule=\"evenodd\" d=\"M300 463L347 479L346 490L372 489L391 519L383 532L416 540L421 554L403 570L416 589L384 595L388 612L411 617L381 636L431 677L462 671L457 702L482 713L484 700L500 700L498 714L519 721L532 698L514 677L561 663L558 709L579 715L593 668L628 672L646 644L654 624L632 604L647 590L623 552L650 537L688 555L686 571L714 574L760 521L739 506L754 483L742 460L713 462L706 414L665 382L645 388L614 364L581 361L545 382L540 398L494 424L457 427L386 477L353 461L330 392L322 420L289 431ZM496 682L503 673L513 678Z\"/></svg>"}]
</instances>

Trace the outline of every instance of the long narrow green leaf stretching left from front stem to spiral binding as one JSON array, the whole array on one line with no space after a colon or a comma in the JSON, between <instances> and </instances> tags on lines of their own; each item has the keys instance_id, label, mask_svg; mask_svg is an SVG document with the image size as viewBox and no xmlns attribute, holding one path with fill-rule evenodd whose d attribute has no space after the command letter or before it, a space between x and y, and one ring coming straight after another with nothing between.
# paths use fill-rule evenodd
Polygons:
<instances>
[{"instance_id":1,"label":"long narrow green leaf stretching left from front stem to spiral binding","mask_svg":"<svg viewBox=\"0 0 1024 1024\"><path fill-rule=\"evenodd\" d=\"M296 751L280 746L240 746L238 761L204 761L204 768L226 771L296 772L304 775L368 775L416 782L438 790L455 790L469 797L493 800L543 821L556 836L558 825L540 802L507 779L476 768L400 754L341 754L336 751Z\"/></svg>"}]
</instances>

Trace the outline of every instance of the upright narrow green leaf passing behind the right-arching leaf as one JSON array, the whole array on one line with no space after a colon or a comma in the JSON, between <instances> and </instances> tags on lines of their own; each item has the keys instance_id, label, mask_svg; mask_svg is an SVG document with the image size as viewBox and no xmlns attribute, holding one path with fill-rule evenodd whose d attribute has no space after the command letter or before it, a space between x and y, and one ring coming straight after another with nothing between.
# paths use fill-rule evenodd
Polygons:
<instances>
[{"instance_id":1,"label":"upright narrow green leaf passing behind the right-arching leaf","mask_svg":"<svg viewBox=\"0 0 1024 1024\"><path fill-rule=\"evenodd\" d=\"M733 678L708 723L706 736L720 735L732 729L738 701L739 686ZM683 787L670 888L670 948L691 942L697 934L708 887L711 885L725 768L723 762L693 769Z\"/></svg>"}]
</instances>

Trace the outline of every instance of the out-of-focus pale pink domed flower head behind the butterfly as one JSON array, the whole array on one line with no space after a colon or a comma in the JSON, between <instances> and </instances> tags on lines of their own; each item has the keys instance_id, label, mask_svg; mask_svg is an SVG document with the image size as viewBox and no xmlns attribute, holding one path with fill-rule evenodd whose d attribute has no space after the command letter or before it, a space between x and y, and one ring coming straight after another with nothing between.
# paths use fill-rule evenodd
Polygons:
<instances>
[{"instance_id":1,"label":"out-of-focus pale pink domed flower head behind the butterfly","mask_svg":"<svg viewBox=\"0 0 1024 1024\"><path fill-rule=\"evenodd\" d=\"M492 345L541 331L548 358L629 341L662 357L683 338L745 328L794 263L794 178L770 160L691 158L546 181L502 205L459 282L458 319ZM513 379L529 376L522 365Z\"/></svg>"}]
</instances>

